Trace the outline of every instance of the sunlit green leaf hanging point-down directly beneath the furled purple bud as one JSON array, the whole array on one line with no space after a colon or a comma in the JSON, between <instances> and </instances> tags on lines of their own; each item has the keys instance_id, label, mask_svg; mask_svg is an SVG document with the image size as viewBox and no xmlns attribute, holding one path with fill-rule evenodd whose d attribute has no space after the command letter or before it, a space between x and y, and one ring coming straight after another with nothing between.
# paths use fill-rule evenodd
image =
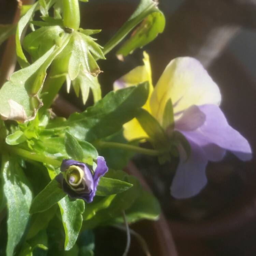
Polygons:
<instances>
[{"instance_id":1,"label":"sunlit green leaf hanging point-down directly beneath the furled purple bud","mask_svg":"<svg viewBox=\"0 0 256 256\"><path fill-rule=\"evenodd\" d=\"M65 250L68 251L74 246L82 227L82 214L85 210L84 200L71 200L69 196L65 196L58 204L65 230Z\"/></svg>"}]
</instances>

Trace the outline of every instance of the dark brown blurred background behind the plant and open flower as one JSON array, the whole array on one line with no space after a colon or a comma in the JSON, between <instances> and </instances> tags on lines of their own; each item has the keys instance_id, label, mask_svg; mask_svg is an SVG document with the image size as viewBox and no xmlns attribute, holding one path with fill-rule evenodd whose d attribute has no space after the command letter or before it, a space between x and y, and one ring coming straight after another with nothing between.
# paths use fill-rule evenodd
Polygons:
<instances>
[{"instance_id":1,"label":"dark brown blurred background behind the plant and open flower","mask_svg":"<svg viewBox=\"0 0 256 256\"><path fill-rule=\"evenodd\" d=\"M139 0L91 0L82 7L83 28L102 29L104 45L136 9ZM0 23L13 20L17 2L1 0ZM256 0L159 0L165 31L144 49L150 54L154 84L169 61L179 56L199 59L222 93L221 108L229 124L256 152ZM6 44L0 48L0 56ZM100 60L103 94L113 81L141 65L142 50L124 62L115 53ZM61 91L63 99L70 100ZM70 102L83 110L81 100ZM58 104L55 105L58 111ZM171 198L175 163L136 156L136 167L158 197L168 219L178 255L256 255L256 162L240 162L231 154L207 169L208 185L196 197ZM158 255L156 255L158 256Z\"/></svg>"}]
</instances>

